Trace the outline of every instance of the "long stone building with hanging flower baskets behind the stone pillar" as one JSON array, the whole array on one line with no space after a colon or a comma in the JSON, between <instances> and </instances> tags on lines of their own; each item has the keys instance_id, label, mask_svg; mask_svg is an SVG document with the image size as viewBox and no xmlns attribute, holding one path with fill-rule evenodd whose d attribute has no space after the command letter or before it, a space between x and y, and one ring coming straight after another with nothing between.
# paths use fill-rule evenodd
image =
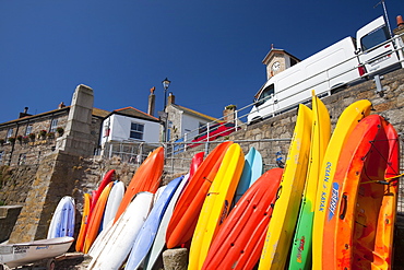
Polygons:
<instances>
[{"instance_id":1,"label":"long stone building with hanging flower baskets behind the stone pillar","mask_svg":"<svg viewBox=\"0 0 404 270\"><path fill-rule=\"evenodd\" d=\"M81 89L91 90L79 85L76 91ZM70 117L72 105L61 103L57 109L37 115L29 115L25 108L17 119L0 124L0 165L38 164L45 155L58 151L58 142L60 144L67 136L68 124L75 120ZM108 113L97 108L91 110L87 133L92 154L99 145L102 121Z\"/></svg>"}]
</instances>

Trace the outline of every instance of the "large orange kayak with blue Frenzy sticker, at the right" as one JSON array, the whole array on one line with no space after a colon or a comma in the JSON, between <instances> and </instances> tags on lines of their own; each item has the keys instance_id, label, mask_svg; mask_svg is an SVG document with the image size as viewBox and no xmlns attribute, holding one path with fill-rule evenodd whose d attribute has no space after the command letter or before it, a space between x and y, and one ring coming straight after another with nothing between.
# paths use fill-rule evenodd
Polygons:
<instances>
[{"instance_id":1,"label":"large orange kayak with blue Frenzy sticker, at the right","mask_svg":"<svg viewBox=\"0 0 404 270\"><path fill-rule=\"evenodd\" d=\"M388 163L399 164L399 155L393 154L397 137L389 126L378 115L367 116L344 145L326 208L323 269L389 269L384 251L376 253L392 244L384 237L392 234L392 225L385 222L395 216L391 200L395 201L396 186L384 179L392 171ZM387 189L395 190L390 193Z\"/></svg>"}]
</instances>

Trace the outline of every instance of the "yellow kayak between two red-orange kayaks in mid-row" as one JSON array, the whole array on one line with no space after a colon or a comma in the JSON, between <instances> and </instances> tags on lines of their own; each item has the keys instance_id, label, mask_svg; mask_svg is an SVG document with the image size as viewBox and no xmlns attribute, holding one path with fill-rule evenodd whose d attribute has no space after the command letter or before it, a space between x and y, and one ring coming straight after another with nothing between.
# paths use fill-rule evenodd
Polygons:
<instances>
[{"instance_id":1,"label":"yellow kayak between two red-orange kayaks in mid-row","mask_svg":"<svg viewBox=\"0 0 404 270\"><path fill-rule=\"evenodd\" d=\"M192 237L188 269L202 269L212 239L226 219L245 164L239 144L231 144L203 202Z\"/></svg>"}]
</instances>

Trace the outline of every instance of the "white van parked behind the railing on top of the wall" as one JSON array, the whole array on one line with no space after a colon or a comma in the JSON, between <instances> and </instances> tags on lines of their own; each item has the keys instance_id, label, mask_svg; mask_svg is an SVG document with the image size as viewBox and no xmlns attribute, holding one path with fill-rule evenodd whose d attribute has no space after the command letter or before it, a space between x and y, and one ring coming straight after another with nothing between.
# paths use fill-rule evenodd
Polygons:
<instances>
[{"instance_id":1,"label":"white van parked behind the railing on top of the wall","mask_svg":"<svg viewBox=\"0 0 404 270\"><path fill-rule=\"evenodd\" d=\"M346 37L297 64L270 78L260 89L248 122L296 107L319 96L375 74L403 68L403 44L391 39L384 19L367 24L357 32L356 40ZM395 49L396 48L396 49Z\"/></svg>"}]
</instances>

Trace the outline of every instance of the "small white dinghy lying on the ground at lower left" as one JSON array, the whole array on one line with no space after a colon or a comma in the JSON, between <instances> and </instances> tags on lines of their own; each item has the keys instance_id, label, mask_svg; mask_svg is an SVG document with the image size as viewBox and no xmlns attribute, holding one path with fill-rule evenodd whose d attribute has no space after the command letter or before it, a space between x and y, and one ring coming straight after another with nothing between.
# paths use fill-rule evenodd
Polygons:
<instances>
[{"instance_id":1,"label":"small white dinghy lying on the ground at lower left","mask_svg":"<svg viewBox=\"0 0 404 270\"><path fill-rule=\"evenodd\" d=\"M70 236L0 245L0 263L10 268L66 254L73 244Z\"/></svg>"}]
</instances>

